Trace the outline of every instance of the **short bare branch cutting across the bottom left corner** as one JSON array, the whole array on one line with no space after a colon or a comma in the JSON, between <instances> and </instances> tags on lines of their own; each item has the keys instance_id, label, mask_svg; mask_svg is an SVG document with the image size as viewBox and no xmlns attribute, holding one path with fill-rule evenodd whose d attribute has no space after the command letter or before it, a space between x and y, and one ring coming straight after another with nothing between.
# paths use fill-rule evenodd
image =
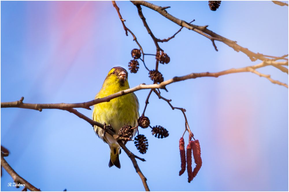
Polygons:
<instances>
[{"instance_id":1,"label":"short bare branch cutting across the bottom left corner","mask_svg":"<svg viewBox=\"0 0 289 192\"><path fill-rule=\"evenodd\" d=\"M1 146L2 150L2 146ZM11 166L7 163L7 161L4 159L4 155L1 152L1 166L8 172L8 174L12 177L15 183L24 184L27 189L30 191L40 191L40 189L37 189L32 184L30 184L27 180L23 179L20 175L18 175Z\"/></svg>"}]
</instances>

